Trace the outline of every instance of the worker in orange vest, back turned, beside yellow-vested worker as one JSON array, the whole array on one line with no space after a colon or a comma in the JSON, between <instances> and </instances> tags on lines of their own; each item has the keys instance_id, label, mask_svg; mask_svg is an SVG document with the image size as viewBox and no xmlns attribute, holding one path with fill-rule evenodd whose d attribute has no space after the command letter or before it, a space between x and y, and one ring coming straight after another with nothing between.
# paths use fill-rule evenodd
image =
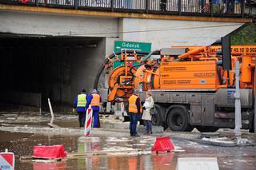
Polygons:
<instances>
[{"instance_id":1,"label":"worker in orange vest, back turned, beside yellow-vested worker","mask_svg":"<svg viewBox=\"0 0 256 170\"><path fill-rule=\"evenodd\" d=\"M100 110L101 101L102 101L102 99L99 96L97 90L94 89L91 92L91 101L90 101L91 108L93 109L94 128L100 128L98 112Z\"/></svg>"}]
</instances>

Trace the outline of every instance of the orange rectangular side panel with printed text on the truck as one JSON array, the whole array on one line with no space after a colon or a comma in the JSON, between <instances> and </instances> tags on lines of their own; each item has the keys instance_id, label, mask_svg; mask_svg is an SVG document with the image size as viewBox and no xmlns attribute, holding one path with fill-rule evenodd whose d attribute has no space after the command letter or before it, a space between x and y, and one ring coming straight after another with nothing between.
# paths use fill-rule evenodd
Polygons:
<instances>
[{"instance_id":1,"label":"orange rectangular side panel with printed text on the truck","mask_svg":"<svg viewBox=\"0 0 256 170\"><path fill-rule=\"evenodd\" d=\"M216 61L166 62L160 70L160 89L217 89Z\"/></svg>"}]
</instances>

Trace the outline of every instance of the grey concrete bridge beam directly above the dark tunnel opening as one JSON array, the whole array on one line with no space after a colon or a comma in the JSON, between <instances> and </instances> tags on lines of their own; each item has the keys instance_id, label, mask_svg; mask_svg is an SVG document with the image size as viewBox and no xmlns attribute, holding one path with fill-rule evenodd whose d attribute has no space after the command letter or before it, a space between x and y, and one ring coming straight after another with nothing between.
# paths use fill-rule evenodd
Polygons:
<instances>
[{"instance_id":1,"label":"grey concrete bridge beam directly above the dark tunnel opening","mask_svg":"<svg viewBox=\"0 0 256 170\"><path fill-rule=\"evenodd\" d=\"M0 11L0 32L13 34L117 37L117 18Z\"/></svg>"}]
</instances>

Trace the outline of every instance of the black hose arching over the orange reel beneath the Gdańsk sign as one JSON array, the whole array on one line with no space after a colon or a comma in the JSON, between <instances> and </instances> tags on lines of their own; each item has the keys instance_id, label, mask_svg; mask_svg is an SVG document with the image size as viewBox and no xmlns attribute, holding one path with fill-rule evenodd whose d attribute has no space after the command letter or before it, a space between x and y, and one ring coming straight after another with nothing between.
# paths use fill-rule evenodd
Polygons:
<instances>
[{"instance_id":1,"label":"black hose arching over the orange reel beneath the Gda\u0144sk sign","mask_svg":"<svg viewBox=\"0 0 256 170\"><path fill-rule=\"evenodd\" d=\"M155 53L155 51L154 51L154 53L152 53L152 52L133 50L133 49L126 49L124 52L125 53L134 53L135 52L135 53L138 53L139 55L148 55L148 56L149 56L150 53L151 53L150 55L152 55L152 54L154 54L154 55L159 54L159 51L158 51L158 53ZM121 53L122 53L122 51L118 51L117 53L111 53L109 57L110 57L110 59L112 59L113 57L115 57L116 55L120 55ZM145 60L143 60L143 61L145 61ZM102 65L98 69L98 73L97 73L95 81L94 81L94 89L97 89L99 77L101 76L102 71L103 71L105 65L107 65L109 62L110 62L110 60L108 58L106 58L106 60L102 63Z\"/></svg>"}]
</instances>

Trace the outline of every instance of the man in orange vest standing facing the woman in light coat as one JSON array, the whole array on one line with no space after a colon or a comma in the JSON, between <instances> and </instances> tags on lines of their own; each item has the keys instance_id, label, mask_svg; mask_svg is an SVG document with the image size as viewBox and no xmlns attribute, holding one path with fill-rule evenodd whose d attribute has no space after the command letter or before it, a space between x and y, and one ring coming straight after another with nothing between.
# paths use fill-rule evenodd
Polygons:
<instances>
[{"instance_id":1,"label":"man in orange vest standing facing the woman in light coat","mask_svg":"<svg viewBox=\"0 0 256 170\"><path fill-rule=\"evenodd\" d=\"M139 98L139 90L135 89L134 94L129 98L129 114L130 114L130 136L139 136L137 132L138 120L142 113L142 103Z\"/></svg>"}]
</instances>

